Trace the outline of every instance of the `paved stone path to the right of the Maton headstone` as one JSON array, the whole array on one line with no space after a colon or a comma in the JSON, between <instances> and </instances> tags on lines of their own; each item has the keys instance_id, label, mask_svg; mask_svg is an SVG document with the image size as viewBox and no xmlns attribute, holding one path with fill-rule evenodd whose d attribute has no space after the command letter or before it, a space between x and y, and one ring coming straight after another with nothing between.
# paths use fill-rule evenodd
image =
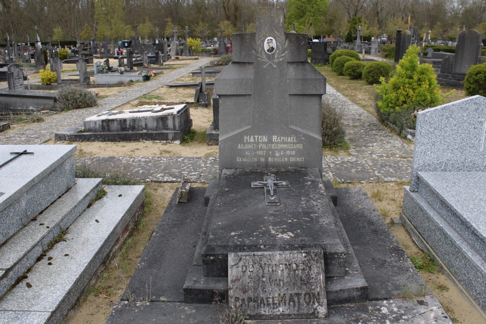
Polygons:
<instances>
[{"instance_id":1,"label":"paved stone path to the right of the Maton headstone","mask_svg":"<svg viewBox=\"0 0 486 324\"><path fill-rule=\"evenodd\" d=\"M343 109L351 156L324 156L323 177L339 182L410 181L413 143L390 132L332 86L327 85L326 92L323 100Z\"/></svg>"}]
</instances>

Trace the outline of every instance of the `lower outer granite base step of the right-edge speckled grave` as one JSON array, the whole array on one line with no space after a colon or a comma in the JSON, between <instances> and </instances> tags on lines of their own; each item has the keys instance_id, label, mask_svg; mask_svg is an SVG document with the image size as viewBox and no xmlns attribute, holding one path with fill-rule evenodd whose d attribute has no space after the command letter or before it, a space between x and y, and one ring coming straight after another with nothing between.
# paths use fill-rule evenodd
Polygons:
<instances>
[{"instance_id":1,"label":"lower outer granite base step of the right-edge speckled grave","mask_svg":"<svg viewBox=\"0 0 486 324\"><path fill-rule=\"evenodd\" d=\"M424 251L432 249L451 273L486 309L486 260L418 192L405 187L400 219ZM419 234L420 233L420 234ZM417 236L417 238L415 237Z\"/></svg>"}]
</instances>

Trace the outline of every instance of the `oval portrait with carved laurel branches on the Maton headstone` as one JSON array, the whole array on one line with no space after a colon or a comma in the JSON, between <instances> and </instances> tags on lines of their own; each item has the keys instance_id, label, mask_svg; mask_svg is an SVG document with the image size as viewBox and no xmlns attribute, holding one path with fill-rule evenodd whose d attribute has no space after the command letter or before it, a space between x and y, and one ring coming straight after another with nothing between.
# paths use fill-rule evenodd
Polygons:
<instances>
[{"instance_id":1,"label":"oval portrait with carved laurel branches on the Maton headstone","mask_svg":"<svg viewBox=\"0 0 486 324\"><path fill-rule=\"evenodd\" d=\"M259 61L268 62L263 66L266 68L271 64L275 68L274 62L280 62L287 54L287 41L283 34L277 34L275 37L261 36L253 44L253 54Z\"/></svg>"}]
</instances>

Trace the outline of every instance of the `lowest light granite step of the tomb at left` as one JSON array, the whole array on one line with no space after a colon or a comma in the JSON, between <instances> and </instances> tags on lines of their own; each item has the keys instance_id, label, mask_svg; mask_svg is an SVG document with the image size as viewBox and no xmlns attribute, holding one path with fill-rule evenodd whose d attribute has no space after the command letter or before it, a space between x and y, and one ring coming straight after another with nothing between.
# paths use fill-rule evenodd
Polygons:
<instances>
[{"instance_id":1,"label":"lowest light granite step of the tomb at left","mask_svg":"<svg viewBox=\"0 0 486 324\"><path fill-rule=\"evenodd\" d=\"M107 195L69 226L0 301L0 323L60 323L143 208L143 186L106 186ZM133 222L131 222L133 220Z\"/></svg>"}]
</instances>

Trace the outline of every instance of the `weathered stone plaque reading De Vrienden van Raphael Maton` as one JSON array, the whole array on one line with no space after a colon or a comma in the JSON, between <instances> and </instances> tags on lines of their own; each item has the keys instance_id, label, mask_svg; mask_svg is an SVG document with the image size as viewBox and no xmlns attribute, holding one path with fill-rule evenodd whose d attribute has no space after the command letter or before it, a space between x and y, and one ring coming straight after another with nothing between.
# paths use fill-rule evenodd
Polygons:
<instances>
[{"instance_id":1,"label":"weathered stone plaque reading De Vrienden van Raphael Maton","mask_svg":"<svg viewBox=\"0 0 486 324\"><path fill-rule=\"evenodd\" d=\"M325 318L322 250L228 253L228 301L251 319Z\"/></svg>"}]
</instances>

